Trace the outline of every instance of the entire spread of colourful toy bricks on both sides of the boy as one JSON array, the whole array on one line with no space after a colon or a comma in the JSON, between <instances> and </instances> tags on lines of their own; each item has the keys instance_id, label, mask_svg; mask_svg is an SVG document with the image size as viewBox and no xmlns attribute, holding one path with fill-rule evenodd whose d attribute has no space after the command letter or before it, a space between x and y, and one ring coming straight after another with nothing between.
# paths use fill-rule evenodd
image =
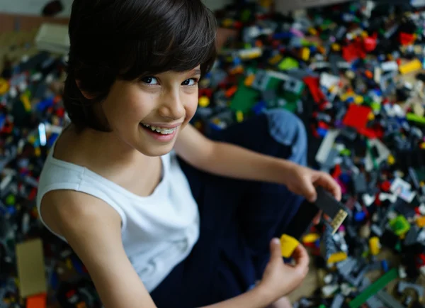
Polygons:
<instances>
[{"instance_id":1,"label":"entire spread of colourful toy bricks on both sides of the boy","mask_svg":"<svg viewBox=\"0 0 425 308\"><path fill-rule=\"evenodd\" d=\"M356 3L282 16L245 4L217 19L237 35L201 82L193 123L208 133L264 109L292 111L309 133L310 166L343 191L339 230L319 224L303 238L324 277L295 306L421 307L425 14ZM64 69L64 58L38 53L1 72L0 308L101 307L84 265L35 209L45 155L67 121Z\"/></svg>"}]
</instances>

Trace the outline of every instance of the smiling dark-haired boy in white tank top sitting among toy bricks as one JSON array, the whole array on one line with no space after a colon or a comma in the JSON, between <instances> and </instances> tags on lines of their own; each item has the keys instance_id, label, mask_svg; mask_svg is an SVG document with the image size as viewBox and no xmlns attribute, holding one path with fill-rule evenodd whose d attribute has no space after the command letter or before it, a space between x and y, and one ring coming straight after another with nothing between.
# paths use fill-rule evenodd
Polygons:
<instances>
[{"instance_id":1,"label":"smiling dark-haired boy in white tank top sitting among toy bricks","mask_svg":"<svg viewBox=\"0 0 425 308\"><path fill-rule=\"evenodd\" d=\"M299 246L297 265L285 265L271 239L314 185L340 197L329 175L302 166L305 131L292 114L270 111L213 140L188 123L215 33L200 0L74 0L72 123L37 201L106 308L287 305L278 299L308 257Z\"/></svg>"}]
</instances>

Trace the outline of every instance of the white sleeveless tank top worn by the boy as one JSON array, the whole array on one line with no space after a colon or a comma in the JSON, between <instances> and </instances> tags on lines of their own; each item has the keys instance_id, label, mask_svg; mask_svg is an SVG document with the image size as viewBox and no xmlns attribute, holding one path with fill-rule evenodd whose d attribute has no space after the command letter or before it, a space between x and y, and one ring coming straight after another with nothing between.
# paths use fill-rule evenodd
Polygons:
<instances>
[{"instance_id":1,"label":"white sleeveless tank top worn by the boy","mask_svg":"<svg viewBox=\"0 0 425 308\"><path fill-rule=\"evenodd\" d=\"M42 197L55 189L102 199L120 214L125 253L147 290L154 290L186 258L199 236L198 206L175 153L162 156L161 182L149 197L140 197L86 167L54 158L54 148L40 175L38 212ZM47 227L41 214L40 220Z\"/></svg>"}]
</instances>

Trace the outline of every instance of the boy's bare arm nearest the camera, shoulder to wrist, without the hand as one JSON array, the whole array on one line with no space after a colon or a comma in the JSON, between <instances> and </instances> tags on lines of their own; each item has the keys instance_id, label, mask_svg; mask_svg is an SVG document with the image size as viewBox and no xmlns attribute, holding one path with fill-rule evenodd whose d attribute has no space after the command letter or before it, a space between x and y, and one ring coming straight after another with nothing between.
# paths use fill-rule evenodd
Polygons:
<instances>
[{"instance_id":1,"label":"boy's bare arm nearest the camera, shoulder to wrist, without the hand","mask_svg":"<svg viewBox=\"0 0 425 308\"><path fill-rule=\"evenodd\" d=\"M156 307L125 254L115 209L87 194L64 190L47 193L41 211L46 224L67 238L86 265L105 308ZM276 251L276 259L282 262L280 247ZM264 285L204 308L267 307L282 295L276 296L273 288Z\"/></svg>"}]
</instances>

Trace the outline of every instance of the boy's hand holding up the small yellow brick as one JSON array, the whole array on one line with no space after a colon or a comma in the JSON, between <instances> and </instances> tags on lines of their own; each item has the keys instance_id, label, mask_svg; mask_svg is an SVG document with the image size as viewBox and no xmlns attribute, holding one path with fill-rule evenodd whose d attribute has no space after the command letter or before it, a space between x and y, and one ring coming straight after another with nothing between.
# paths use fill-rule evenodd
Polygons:
<instances>
[{"instance_id":1,"label":"boy's hand holding up the small yellow brick","mask_svg":"<svg viewBox=\"0 0 425 308\"><path fill-rule=\"evenodd\" d=\"M308 273L309 257L301 244L295 248L292 258L295 265L285 264L280 250L280 241L273 238L270 243L271 256L263 278L259 283L266 294L275 302L280 297L288 295L295 290Z\"/></svg>"}]
</instances>

